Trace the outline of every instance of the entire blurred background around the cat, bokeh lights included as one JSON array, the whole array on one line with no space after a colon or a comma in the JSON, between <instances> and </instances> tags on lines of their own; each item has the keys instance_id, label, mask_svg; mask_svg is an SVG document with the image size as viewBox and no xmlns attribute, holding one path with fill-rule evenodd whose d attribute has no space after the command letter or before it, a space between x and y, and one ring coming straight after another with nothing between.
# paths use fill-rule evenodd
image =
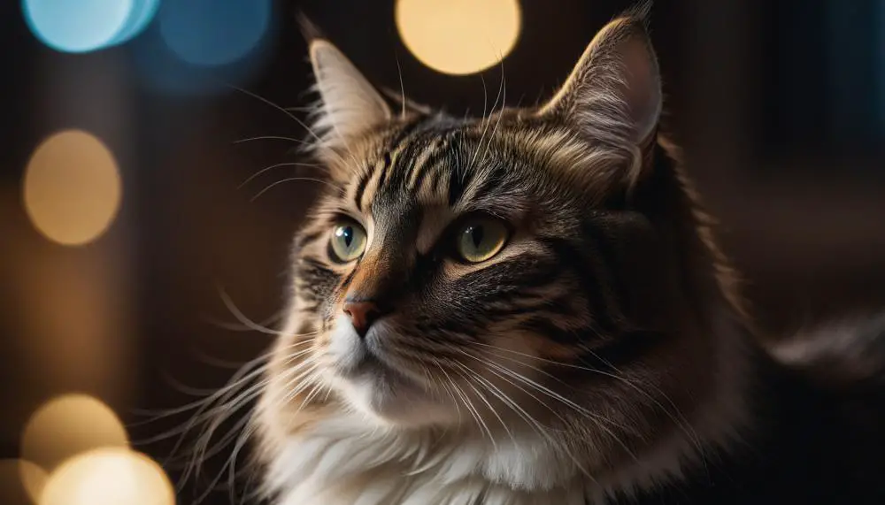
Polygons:
<instances>
[{"instance_id":1,"label":"entire blurred background around the cat, bokeh lights included","mask_svg":"<svg viewBox=\"0 0 885 505\"><path fill-rule=\"evenodd\" d=\"M299 12L379 86L479 115L502 76L509 105L550 96L628 4L0 4L0 503L173 503L181 458L154 439L194 411L146 421L270 344L242 319L273 325L317 188L293 179ZM885 0L658 0L651 27L668 123L769 338L885 304ZM238 416L179 503L232 502L212 478Z\"/></svg>"}]
</instances>

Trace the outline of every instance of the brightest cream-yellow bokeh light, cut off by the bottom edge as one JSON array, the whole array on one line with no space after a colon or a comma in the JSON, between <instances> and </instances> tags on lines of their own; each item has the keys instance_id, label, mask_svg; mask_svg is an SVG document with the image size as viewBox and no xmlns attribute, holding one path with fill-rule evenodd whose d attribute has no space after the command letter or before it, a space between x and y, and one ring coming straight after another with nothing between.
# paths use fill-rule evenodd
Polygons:
<instances>
[{"instance_id":1,"label":"brightest cream-yellow bokeh light, cut off by the bottom edge","mask_svg":"<svg viewBox=\"0 0 885 505\"><path fill-rule=\"evenodd\" d=\"M40 505L174 505L173 486L160 466L127 449L98 449L62 464L50 476Z\"/></svg>"}]
</instances>

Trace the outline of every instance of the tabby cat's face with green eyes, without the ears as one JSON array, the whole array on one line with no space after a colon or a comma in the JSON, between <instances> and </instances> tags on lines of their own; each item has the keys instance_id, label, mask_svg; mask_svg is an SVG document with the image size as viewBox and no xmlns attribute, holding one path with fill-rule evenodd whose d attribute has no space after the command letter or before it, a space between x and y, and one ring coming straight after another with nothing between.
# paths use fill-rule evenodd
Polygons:
<instances>
[{"instance_id":1,"label":"tabby cat's face with green eyes, without the ears","mask_svg":"<svg viewBox=\"0 0 885 505\"><path fill-rule=\"evenodd\" d=\"M612 343L612 289L588 264L606 219L566 176L574 144L502 118L413 119L360 146L296 259L301 329L346 402L381 423L467 422L461 394L524 402L520 381Z\"/></svg>"}]
</instances>

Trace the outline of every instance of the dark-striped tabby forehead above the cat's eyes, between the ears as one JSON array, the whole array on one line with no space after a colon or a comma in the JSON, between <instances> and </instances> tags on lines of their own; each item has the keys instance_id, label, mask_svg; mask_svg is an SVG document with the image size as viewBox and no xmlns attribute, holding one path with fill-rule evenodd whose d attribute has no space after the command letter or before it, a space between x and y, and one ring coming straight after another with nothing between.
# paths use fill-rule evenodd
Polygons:
<instances>
[{"instance_id":1,"label":"dark-striped tabby forehead above the cat's eyes, between the ears","mask_svg":"<svg viewBox=\"0 0 885 505\"><path fill-rule=\"evenodd\" d=\"M581 156L573 135L511 116L424 119L364 144L347 195L361 212L519 211L550 170ZM586 149L584 149L586 150Z\"/></svg>"}]
</instances>

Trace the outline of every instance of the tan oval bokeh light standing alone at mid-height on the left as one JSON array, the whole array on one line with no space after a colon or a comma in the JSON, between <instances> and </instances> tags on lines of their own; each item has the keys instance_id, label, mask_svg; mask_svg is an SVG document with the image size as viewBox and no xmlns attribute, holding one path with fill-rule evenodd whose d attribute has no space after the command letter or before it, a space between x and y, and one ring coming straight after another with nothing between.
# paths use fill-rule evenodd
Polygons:
<instances>
[{"instance_id":1,"label":"tan oval bokeh light standing alone at mid-height on the left","mask_svg":"<svg viewBox=\"0 0 885 505\"><path fill-rule=\"evenodd\" d=\"M122 185L117 162L104 143L80 130L46 139L25 172L25 209L50 240L81 245L111 225Z\"/></svg>"}]
</instances>

